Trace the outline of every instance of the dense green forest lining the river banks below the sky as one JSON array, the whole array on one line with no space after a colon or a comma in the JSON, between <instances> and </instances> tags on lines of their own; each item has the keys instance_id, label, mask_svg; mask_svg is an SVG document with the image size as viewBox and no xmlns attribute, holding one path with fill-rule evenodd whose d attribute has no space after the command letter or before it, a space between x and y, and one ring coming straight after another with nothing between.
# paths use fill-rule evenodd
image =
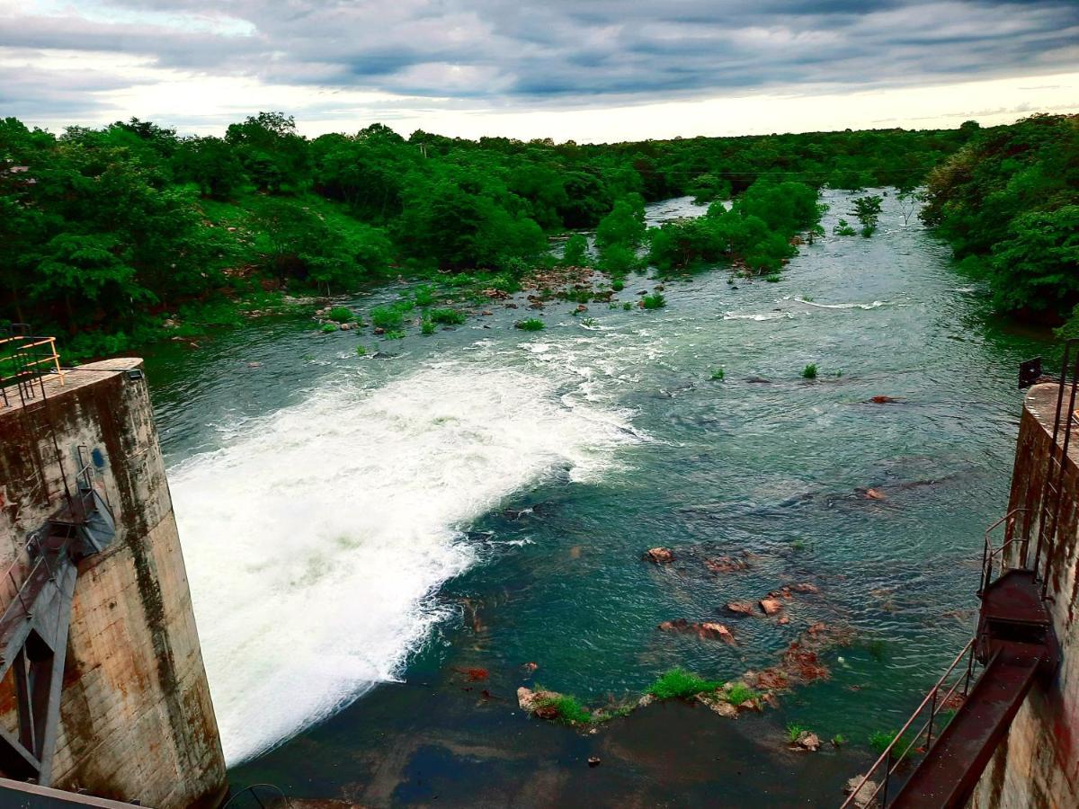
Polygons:
<instances>
[{"instance_id":1,"label":"dense green forest lining the river banks below the sky","mask_svg":"<svg viewBox=\"0 0 1079 809\"><path fill-rule=\"evenodd\" d=\"M798 234L819 231L821 187L910 194L928 182L927 222L998 305L1055 315L1079 302L1076 129L1074 116L1035 116L984 131L556 145L404 138L380 124L309 139L281 113L221 138L136 119L57 136L9 118L0 312L86 357L150 342L166 324L234 323L286 292L386 276L484 273L508 289L537 266L593 260L615 277L645 261L771 274ZM684 194L715 202L698 220L645 230L646 202ZM595 259L579 235L552 256L549 236L584 230L596 231Z\"/></svg>"}]
</instances>

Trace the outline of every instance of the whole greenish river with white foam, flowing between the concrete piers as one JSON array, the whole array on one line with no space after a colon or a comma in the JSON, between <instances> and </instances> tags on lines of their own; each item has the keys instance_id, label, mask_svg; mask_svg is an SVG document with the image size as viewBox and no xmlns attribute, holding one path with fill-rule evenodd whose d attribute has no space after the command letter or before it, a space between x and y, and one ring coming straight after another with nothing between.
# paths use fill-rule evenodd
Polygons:
<instances>
[{"instance_id":1,"label":"whole greenish river with white foam, flowing between the concrete piers","mask_svg":"<svg viewBox=\"0 0 1079 809\"><path fill-rule=\"evenodd\" d=\"M831 233L849 201L823 201ZM701 211L675 200L648 217ZM670 282L658 311L593 303L586 320L555 303L544 331L523 332L523 302L492 302L491 316L378 345L286 318L151 356L234 783L363 794L390 767L380 744L437 748L470 722L494 746L573 748L578 733L517 710L518 685L595 704L674 666L735 677L817 620L853 630L825 655L831 677L749 722L775 746L790 722L842 733L848 752L830 755L853 774L866 737L901 725L971 632L982 532L1007 499L1016 366L1046 349L948 263L889 195L872 238L803 246L778 283L722 269ZM617 297L656 283L632 276ZM673 564L641 560L660 545ZM702 564L742 552L746 571ZM795 599L789 625L724 615L790 582L820 593ZM722 620L738 643L657 631L678 618ZM470 668L490 678L468 683ZM431 754L427 771L467 780L468 755ZM434 799L405 759L387 799ZM764 776L782 779L784 760Z\"/></svg>"}]
</instances>

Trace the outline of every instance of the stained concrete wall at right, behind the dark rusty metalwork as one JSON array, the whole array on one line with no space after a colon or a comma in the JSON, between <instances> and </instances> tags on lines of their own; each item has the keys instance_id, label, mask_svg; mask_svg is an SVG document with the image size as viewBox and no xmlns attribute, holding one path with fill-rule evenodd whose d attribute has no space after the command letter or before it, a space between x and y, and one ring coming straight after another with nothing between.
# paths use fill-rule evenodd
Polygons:
<instances>
[{"instance_id":1,"label":"stained concrete wall at right, behind the dark rusty metalwork","mask_svg":"<svg viewBox=\"0 0 1079 809\"><path fill-rule=\"evenodd\" d=\"M1020 425L1009 510L1025 509L1019 513L1015 536L1030 538L1030 554L1050 466L1056 395L1053 384L1032 388ZM1079 807L1079 427L1064 458L1061 491L1047 592L1061 666L1051 682L1036 685L1020 708L974 791L971 805L976 809ZM1010 561L1015 564L1024 547L1016 543L1012 548Z\"/></svg>"}]
</instances>

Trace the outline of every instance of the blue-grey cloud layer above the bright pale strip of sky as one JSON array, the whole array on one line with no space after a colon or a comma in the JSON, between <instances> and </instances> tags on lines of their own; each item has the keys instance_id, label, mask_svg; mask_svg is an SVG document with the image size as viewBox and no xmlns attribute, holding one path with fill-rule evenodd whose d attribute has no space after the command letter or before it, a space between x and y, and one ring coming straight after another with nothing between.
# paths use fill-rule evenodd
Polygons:
<instances>
[{"instance_id":1,"label":"blue-grey cloud layer above the bright pale strip of sky","mask_svg":"<svg viewBox=\"0 0 1079 809\"><path fill-rule=\"evenodd\" d=\"M916 84L1079 61L1075 0L113 0L108 8L105 17L0 16L0 46L513 106ZM0 67L0 82L13 79L9 72Z\"/></svg>"}]
</instances>

